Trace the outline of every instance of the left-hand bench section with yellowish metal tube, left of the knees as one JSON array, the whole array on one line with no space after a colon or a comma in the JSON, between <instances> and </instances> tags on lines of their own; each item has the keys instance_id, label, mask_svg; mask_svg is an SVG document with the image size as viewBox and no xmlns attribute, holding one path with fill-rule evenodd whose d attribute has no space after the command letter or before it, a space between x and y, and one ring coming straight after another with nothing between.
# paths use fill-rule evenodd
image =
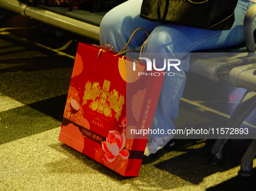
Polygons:
<instances>
[{"instance_id":1,"label":"left-hand bench section with yellowish metal tube, left of the knees","mask_svg":"<svg viewBox=\"0 0 256 191\"><path fill-rule=\"evenodd\" d=\"M83 11L43 4L29 5L21 0L0 0L0 7L31 19L45 22L81 36L99 40L100 22L106 12Z\"/></svg>"}]
</instances>

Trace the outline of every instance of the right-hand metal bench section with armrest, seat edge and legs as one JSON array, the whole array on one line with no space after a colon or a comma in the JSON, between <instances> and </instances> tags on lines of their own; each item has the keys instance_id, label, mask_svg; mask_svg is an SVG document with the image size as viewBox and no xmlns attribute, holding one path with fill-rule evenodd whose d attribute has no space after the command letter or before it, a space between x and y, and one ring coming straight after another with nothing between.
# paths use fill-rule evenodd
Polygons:
<instances>
[{"instance_id":1,"label":"right-hand metal bench section with armrest, seat edge and legs","mask_svg":"<svg viewBox=\"0 0 256 191\"><path fill-rule=\"evenodd\" d=\"M203 75L214 81L224 79L235 87L247 89L237 108L231 115L225 128L237 128L256 108L256 53L253 35L253 21L256 18L256 4L247 11L244 19L246 37L245 53L237 53L233 57L213 59L196 59L191 63L190 72ZM246 150L242 160L239 175L250 176L253 173L253 159L256 154L256 135ZM214 143L211 153L211 163L223 163L223 148L229 135L220 135Z\"/></svg>"}]
</instances>

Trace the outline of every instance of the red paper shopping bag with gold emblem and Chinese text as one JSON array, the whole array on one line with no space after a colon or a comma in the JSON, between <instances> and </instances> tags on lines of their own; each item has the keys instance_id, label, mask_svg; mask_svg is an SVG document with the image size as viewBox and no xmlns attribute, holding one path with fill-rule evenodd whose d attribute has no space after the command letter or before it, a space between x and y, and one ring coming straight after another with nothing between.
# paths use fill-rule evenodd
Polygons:
<instances>
[{"instance_id":1,"label":"red paper shopping bag with gold emblem and Chinese text","mask_svg":"<svg viewBox=\"0 0 256 191\"><path fill-rule=\"evenodd\" d=\"M59 141L120 175L138 176L147 141L138 132L151 127L163 81L139 75L145 71L139 61L79 43Z\"/></svg>"}]
</instances>

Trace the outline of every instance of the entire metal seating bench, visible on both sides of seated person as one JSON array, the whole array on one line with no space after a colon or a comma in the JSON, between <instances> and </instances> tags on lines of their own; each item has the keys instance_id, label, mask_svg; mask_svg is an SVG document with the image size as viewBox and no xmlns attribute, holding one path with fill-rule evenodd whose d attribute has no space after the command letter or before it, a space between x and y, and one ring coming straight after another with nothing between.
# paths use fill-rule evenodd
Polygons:
<instances>
[{"instance_id":1,"label":"entire metal seating bench, visible on both sides of seated person","mask_svg":"<svg viewBox=\"0 0 256 191\"><path fill-rule=\"evenodd\" d=\"M51 7L41 4L28 5L19 0L0 0L0 7L23 16L45 22L49 25L74 32L87 38L99 41L99 26L104 13L89 11L69 11L65 7ZM214 81L226 80L231 85L246 88L242 100L230 117L227 127L236 128L256 107L256 54L253 36L253 21L256 16L256 5L253 5L244 20L246 49L244 53L234 56L214 56L214 58L191 58L189 71L205 76ZM234 50L234 52L236 52ZM212 147L213 164L220 164L223 160L222 149L229 137L220 136ZM251 175L253 158L256 154L256 139L254 139L241 161L240 175Z\"/></svg>"}]
</instances>

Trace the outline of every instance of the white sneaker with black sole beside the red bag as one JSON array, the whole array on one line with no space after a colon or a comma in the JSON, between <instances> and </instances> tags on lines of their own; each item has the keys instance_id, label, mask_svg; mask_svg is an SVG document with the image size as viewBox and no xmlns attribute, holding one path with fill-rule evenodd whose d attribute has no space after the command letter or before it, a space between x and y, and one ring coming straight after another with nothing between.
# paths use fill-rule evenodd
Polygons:
<instances>
[{"instance_id":1,"label":"white sneaker with black sole beside the red bag","mask_svg":"<svg viewBox=\"0 0 256 191\"><path fill-rule=\"evenodd\" d=\"M170 152L174 145L175 140L173 140L173 135L165 137L149 137L142 163L146 164L154 162L162 157L165 153Z\"/></svg>"}]
</instances>

